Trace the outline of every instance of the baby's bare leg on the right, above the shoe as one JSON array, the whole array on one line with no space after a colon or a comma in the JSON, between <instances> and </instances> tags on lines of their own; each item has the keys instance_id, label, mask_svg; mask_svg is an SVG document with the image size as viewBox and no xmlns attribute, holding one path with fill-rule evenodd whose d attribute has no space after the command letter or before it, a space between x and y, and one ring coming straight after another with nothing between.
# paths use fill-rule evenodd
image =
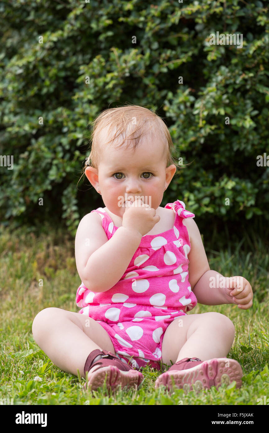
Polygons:
<instances>
[{"instance_id":1,"label":"baby's bare leg on the right, above the shoe","mask_svg":"<svg viewBox=\"0 0 269 433\"><path fill-rule=\"evenodd\" d=\"M190 314L168 326L162 342L162 362L171 365L184 358L225 358L234 341L234 324L223 314Z\"/></svg>"}]
</instances>

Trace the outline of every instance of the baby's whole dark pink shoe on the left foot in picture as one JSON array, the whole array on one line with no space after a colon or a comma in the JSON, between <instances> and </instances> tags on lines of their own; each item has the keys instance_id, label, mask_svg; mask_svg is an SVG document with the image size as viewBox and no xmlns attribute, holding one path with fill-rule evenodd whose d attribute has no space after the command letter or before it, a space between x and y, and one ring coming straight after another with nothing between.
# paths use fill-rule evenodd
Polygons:
<instances>
[{"instance_id":1,"label":"baby's whole dark pink shoe on the left foot in picture","mask_svg":"<svg viewBox=\"0 0 269 433\"><path fill-rule=\"evenodd\" d=\"M101 359L93 362L96 356L101 355ZM119 385L121 387L138 387L144 380L142 373L134 370L130 365L124 364L111 352L99 349L93 350L87 358L88 377L84 388L96 390L106 383L107 388L113 391Z\"/></svg>"}]
</instances>

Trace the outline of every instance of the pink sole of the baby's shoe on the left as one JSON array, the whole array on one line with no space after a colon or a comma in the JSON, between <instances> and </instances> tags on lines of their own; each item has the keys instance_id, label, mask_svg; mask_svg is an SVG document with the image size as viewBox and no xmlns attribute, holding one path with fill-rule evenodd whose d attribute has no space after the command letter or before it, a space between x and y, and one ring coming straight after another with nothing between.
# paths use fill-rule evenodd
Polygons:
<instances>
[{"instance_id":1,"label":"pink sole of the baby's shoe on the left","mask_svg":"<svg viewBox=\"0 0 269 433\"><path fill-rule=\"evenodd\" d=\"M96 390L103 387L105 383L108 389L114 391L119 385L121 385L121 388L125 386L139 387L142 381L144 381L144 376L136 370L124 372L114 365L108 365L95 370L95 372L88 373L88 381L85 383L84 388Z\"/></svg>"}]
</instances>

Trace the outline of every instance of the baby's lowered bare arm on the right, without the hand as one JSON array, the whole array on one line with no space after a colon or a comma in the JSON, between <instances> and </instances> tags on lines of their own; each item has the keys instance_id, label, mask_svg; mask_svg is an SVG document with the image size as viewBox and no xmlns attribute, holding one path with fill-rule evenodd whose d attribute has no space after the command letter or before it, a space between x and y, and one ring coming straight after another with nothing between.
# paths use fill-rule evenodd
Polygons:
<instances>
[{"instance_id":1,"label":"baby's lowered bare arm on the right, without the hand","mask_svg":"<svg viewBox=\"0 0 269 433\"><path fill-rule=\"evenodd\" d=\"M188 254L189 282L197 302L204 305L232 304L233 302L228 302L222 288L210 287L211 277L214 277L215 281L218 281L217 274L219 279L224 277L210 269L196 222L193 218L188 218L184 220L184 225L187 227L191 245Z\"/></svg>"}]
</instances>

